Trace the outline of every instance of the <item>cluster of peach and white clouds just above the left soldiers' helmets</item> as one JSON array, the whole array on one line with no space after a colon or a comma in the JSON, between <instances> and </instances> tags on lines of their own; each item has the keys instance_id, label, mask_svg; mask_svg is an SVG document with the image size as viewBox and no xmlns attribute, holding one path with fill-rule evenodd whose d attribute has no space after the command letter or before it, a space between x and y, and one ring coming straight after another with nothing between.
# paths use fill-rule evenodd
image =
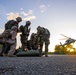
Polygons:
<instances>
[{"instance_id":1,"label":"cluster of peach and white clouds just above the left soldiers' helmets","mask_svg":"<svg viewBox=\"0 0 76 75\"><path fill-rule=\"evenodd\" d=\"M10 13L6 14L7 15L7 19L8 20L12 20L12 19L17 18L18 16L22 17L23 21L36 19L36 16L33 15L34 14L34 10L28 10L28 12L25 12L23 10L23 8L21 8L20 10L21 11L18 12L18 13L10 12Z\"/></svg>"}]
</instances>

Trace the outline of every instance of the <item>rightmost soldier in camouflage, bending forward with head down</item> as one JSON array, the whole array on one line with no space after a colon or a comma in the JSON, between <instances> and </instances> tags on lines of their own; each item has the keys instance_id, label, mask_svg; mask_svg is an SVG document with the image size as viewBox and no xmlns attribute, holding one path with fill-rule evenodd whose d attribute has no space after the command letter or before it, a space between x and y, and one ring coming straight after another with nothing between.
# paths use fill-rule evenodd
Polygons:
<instances>
[{"instance_id":1,"label":"rightmost soldier in camouflage, bending forward with head down","mask_svg":"<svg viewBox=\"0 0 76 75\"><path fill-rule=\"evenodd\" d=\"M38 44L40 45L39 56L42 56L43 44L45 44L45 57L48 57L48 46L50 44L50 32L44 27L37 27Z\"/></svg>"}]
</instances>

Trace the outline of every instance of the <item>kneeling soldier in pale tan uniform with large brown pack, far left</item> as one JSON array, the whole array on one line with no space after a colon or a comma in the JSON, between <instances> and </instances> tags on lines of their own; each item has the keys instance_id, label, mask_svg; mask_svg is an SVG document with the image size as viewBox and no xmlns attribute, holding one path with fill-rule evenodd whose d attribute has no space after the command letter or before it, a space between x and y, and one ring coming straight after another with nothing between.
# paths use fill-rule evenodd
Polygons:
<instances>
[{"instance_id":1,"label":"kneeling soldier in pale tan uniform with large brown pack, far left","mask_svg":"<svg viewBox=\"0 0 76 75\"><path fill-rule=\"evenodd\" d=\"M3 45L3 49L0 55L7 56L8 54L8 56L13 56L13 53L15 52L16 48L16 35L17 35L16 26L12 26L11 30L7 29L2 33L3 38L2 41L0 39L0 43Z\"/></svg>"}]
</instances>

